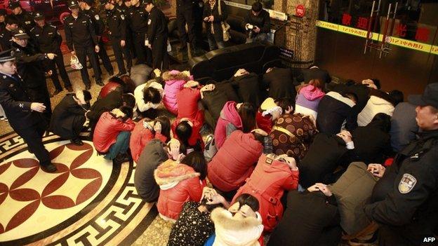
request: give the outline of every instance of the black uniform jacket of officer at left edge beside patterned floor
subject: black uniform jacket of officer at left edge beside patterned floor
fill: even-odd
[[[11,78],[0,74],[0,104],[14,129],[28,128],[40,118],[38,113],[30,110],[32,102],[18,76]]]

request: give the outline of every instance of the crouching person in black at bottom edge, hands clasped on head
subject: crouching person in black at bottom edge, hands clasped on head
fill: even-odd
[[[303,192],[290,191],[283,218],[270,235],[268,246],[338,245],[342,228],[336,197],[326,184]]]

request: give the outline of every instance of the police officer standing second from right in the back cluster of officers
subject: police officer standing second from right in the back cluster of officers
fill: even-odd
[[[131,7],[126,11],[128,25],[131,27],[135,54],[137,62],[135,64],[152,64],[152,54],[145,47],[147,33],[147,12],[141,6],[140,0],[131,0]]]

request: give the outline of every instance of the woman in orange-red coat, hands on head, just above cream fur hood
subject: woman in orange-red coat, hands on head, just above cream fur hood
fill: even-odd
[[[298,188],[298,168],[296,161],[286,155],[263,154],[257,166],[244,186],[237,191],[234,200],[242,193],[248,193],[258,199],[260,214],[265,231],[272,231],[283,216],[281,196],[284,191]]]

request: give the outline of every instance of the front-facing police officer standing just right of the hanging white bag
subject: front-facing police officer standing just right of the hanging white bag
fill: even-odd
[[[72,55],[77,55],[79,62],[82,64],[81,78],[84,81],[85,88],[86,90],[91,88],[91,81],[86,67],[87,56],[93,67],[96,83],[99,86],[104,86],[96,56],[100,48],[93,23],[88,16],[79,13],[79,5],[76,0],[69,1],[69,9],[72,11],[72,15],[67,16],[64,20],[65,41],[67,41],[67,46]]]

